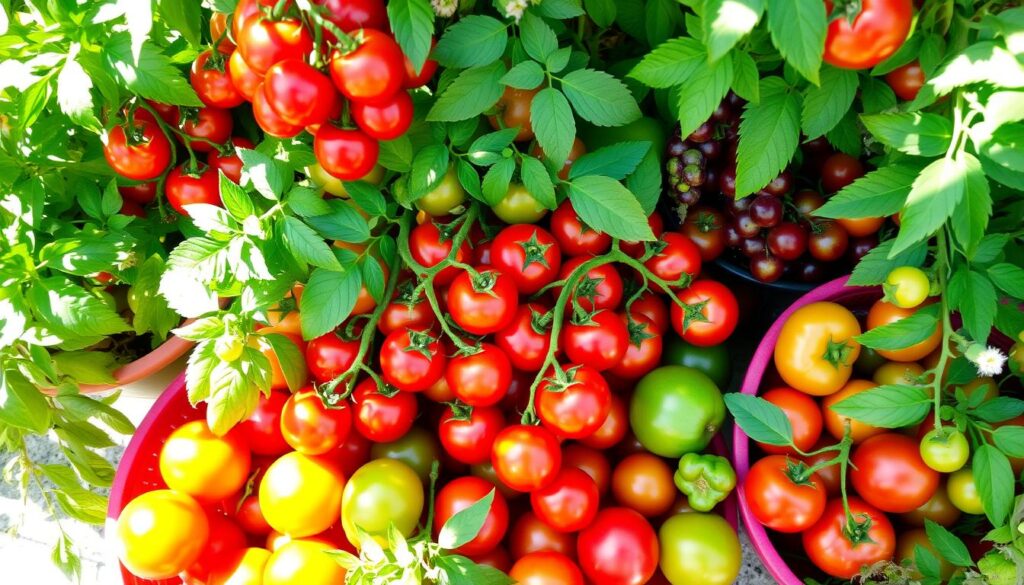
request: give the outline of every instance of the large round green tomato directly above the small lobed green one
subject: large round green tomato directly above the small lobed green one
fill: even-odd
[[[630,403],[630,427],[647,451],[681,457],[702,451],[725,420],[725,401],[705,373],[663,366],[644,376]]]

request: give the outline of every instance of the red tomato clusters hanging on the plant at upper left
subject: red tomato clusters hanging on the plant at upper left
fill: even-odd
[[[287,12],[278,14],[276,2],[242,0],[230,15],[211,20],[216,49],[196,58],[190,80],[203,108],[178,108],[147,102],[133,108],[128,121],[114,127],[103,152],[111,167],[137,183],[121,189],[122,213],[144,215],[142,206],[157,196],[159,179],[175,211],[187,215],[186,205],[221,205],[218,171],[234,182],[242,174],[236,149],[252,149],[247,138],[233,135],[232,109],[252,103],[256,123],[268,135],[314,136],[319,167],[330,176],[358,180],[375,170],[380,140],[406,133],[413,122],[413,99],[407,90],[433,77],[437,62],[428,59],[417,72],[398,43],[388,34],[384,3],[380,0],[342,2],[321,0],[310,14],[327,22],[323,34],[337,45],[314,47],[313,26]],[[312,16],[307,16],[312,18]],[[335,37],[332,30],[351,35]],[[309,65],[310,56],[321,67]],[[338,126],[342,112],[354,124]],[[159,120],[158,120],[159,117]],[[188,160],[177,160],[170,136],[187,150]],[[195,155],[205,155],[205,162]]]

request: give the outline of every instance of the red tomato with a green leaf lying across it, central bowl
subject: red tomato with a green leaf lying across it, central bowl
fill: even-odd
[[[508,503],[505,502],[505,496],[495,489],[494,484],[472,475],[453,479],[437,492],[434,503],[434,535],[440,532],[449,518],[480,501],[490,492],[495,493],[495,499],[490,502],[490,509],[483,520],[483,526],[480,527],[480,532],[473,540],[455,549],[455,552],[483,554],[498,546],[509,528]]]

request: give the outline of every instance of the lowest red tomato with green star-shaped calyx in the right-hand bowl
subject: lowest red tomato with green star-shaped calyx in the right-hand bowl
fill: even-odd
[[[870,528],[856,544],[847,532],[846,511],[839,498],[829,501],[821,518],[803,534],[807,556],[838,579],[853,579],[861,567],[891,560],[896,550],[896,534],[889,518],[860,498],[850,497],[849,501],[854,518],[870,519]]]

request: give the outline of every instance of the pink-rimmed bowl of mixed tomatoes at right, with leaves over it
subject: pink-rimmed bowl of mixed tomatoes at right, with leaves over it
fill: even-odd
[[[993,546],[982,502],[988,478],[971,461],[993,448],[976,433],[1022,422],[1012,408],[983,405],[1019,388],[1000,387],[955,347],[943,348],[941,321],[912,342],[878,343],[883,328],[937,308],[920,269],[895,268],[885,297],[878,288],[845,288],[845,280],[776,322],[754,358],[746,395],[729,405],[752,541],[786,585],[822,575],[963,576]],[[1020,473],[1024,460],[1007,458]]]

